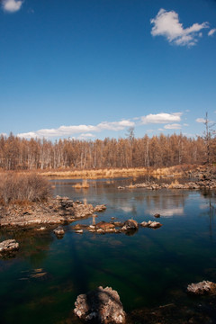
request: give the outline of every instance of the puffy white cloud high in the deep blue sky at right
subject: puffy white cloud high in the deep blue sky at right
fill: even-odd
[[[197,38],[201,37],[200,31],[209,28],[209,23],[193,23],[191,27],[184,28],[179,23],[178,14],[175,11],[167,12],[160,9],[157,16],[150,20],[154,24],[151,30],[152,36],[165,36],[166,40],[179,46],[193,46]]]

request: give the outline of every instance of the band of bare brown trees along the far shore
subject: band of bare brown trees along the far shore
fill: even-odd
[[[182,134],[120,139],[23,139],[11,133],[0,137],[2,170],[97,169],[160,167],[214,162],[215,138]]]

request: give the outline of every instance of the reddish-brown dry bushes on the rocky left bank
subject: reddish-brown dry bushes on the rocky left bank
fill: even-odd
[[[49,181],[37,174],[0,175],[0,200],[4,203],[45,201],[50,191]]]

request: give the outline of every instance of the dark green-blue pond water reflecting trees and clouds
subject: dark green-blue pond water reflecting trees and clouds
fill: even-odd
[[[14,258],[0,259],[0,323],[80,323],[74,318],[76,296],[99,285],[121,296],[125,311],[169,302],[188,302],[187,284],[216,282],[216,195],[196,191],[123,190],[130,180],[97,180],[75,190],[73,180],[53,181],[54,194],[106,203],[96,221],[155,220],[160,229],[125,234],[78,235],[65,226],[64,238],[52,230],[2,230],[0,240],[16,238]],[[92,219],[83,220],[90,224]],[[75,223],[74,223],[75,224]],[[74,225],[73,224],[73,225]],[[33,278],[34,269],[46,275]]]

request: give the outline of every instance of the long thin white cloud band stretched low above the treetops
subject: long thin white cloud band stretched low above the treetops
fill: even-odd
[[[133,121],[102,121],[97,125],[71,125],[71,126],[60,126],[58,129],[45,129],[45,130],[36,130],[30,131],[27,133],[20,133],[17,136],[25,139],[31,138],[52,138],[52,137],[60,137],[60,136],[71,136],[74,134],[81,134],[84,138],[84,134],[88,137],[92,135],[92,132],[100,132],[103,130],[124,130],[127,127],[133,127],[135,123]]]

